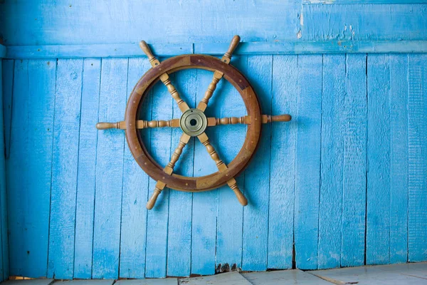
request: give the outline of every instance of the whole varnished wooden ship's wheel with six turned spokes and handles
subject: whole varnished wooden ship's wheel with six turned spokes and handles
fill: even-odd
[[[219,59],[214,56],[205,56],[199,54],[190,54],[184,56],[175,56],[160,63],[149,50],[147,43],[141,41],[139,45],[142,51],[148,56],[152,68],[139,79],[137,85],[130,94],[130,99],[127,102],[125,121],[118,123],[97,123],[98,129],[120,128],[126,130],[126,139],[133,157],[138,162],[142,170],[147,173],[152,179],[157,181],[152,197],[147,202],[147,209],[152,209],[164,187],[169,187],[174,190],[199,192],[212,190],[222,185],[228,184],[235,192],[238,201],[245,206],[248,204],[246,197],[238,189],[238,185],[234,177],[238,175],[248,165],[248,162],[253,157],[253,154],[258,145],[260,138],[261,124],[270,123],[271,121],[288,121],[290,115],[269,116],[261,115],[258,98],[251,87],[251,84],[246,78],[233,66],[230,66],[231,54],[240,41],[239,36],[234,36],[231,45],[225,55]],[[181,96],[176,91],[172,82],[169,80],[169,74],[175,71],[180,71],[186,68],[200,68],[208,71],[214,71],[214,77],[208,86],[208,90],[204,98],[200,101],[197,108],[191,109],[189,105],[181,99]],[[243,102],[246,105],[248,115],[241,118],[206,118],[204,111],[209,103],[209,99],[216,89],[217,83],[221,78],[226,78],[240,93]],[[162,81],[171,93],[174,100],[182,112],[181,118],[172,120],[153,120],[144,121],[138,120],[140,106],[147,91],[154,86],[157,81]],[[206,128],[215,125],[228,124],[247,124],[243,147],[238,152],[238,155],[226,165],[218,156],[213,145],[209,141],[205,133]],[[162,127],[180,127],[183,131],[179,140],[179,145],[174,150],[170,162],[165,166],[160,166],[149,155],[147,148],[142,142],[139,134],[141,128],[162,128]],[[182,153],[183,148],[189,142],[191,137],[196,137],[206,147],[207,152],[216,163],[218,172],[202,177],[185,177],[173,173],[176,161]]]

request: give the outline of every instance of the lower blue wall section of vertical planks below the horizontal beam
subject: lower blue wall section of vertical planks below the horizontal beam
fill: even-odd
[[[426,260],[427,57],[240,56],[232,64],[254,83],[264,113],[294,118],[264,125],[255,160],[238,177],[248,207],[221,187],[165,190],[147,212],[154,184],[130,157],[123,131],[94,127],[122,120],[146,58],[5,60],[11,275],[188,276],[225,263],[288,269],[293,254],[301,269],[357,266],[365,257]],[[172,79],[194,106],[211,73]],[[161,85],[144,110],[153,119],[180,113]],[[245,111],[223,82],[208,113]],[[171,131],[143,131],[161,165],[176,145]],[[209,129],[226,162],[244,134],[238,125]],[[177,169],[203,175],[215,165],[191,142]]]

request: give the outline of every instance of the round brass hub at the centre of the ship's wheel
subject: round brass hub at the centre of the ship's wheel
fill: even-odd
[[[206,130],[207,125],[208,119],[199,109],[186,110],[179,119],[181,130],[191,137],[201,135]]]

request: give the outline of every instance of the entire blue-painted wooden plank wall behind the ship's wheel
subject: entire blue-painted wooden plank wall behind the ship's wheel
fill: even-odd
[[[427,51],[427,4],[419,2],[4,1],[10,275],[152,278],[214,274],[226,263],[263,271],[426,261],[427,55],[413,52]],[[219,54],[235,33],[247,43],[231,64],[253,84],[263,113],[293,120],[263,126],[237,179],[247,207],[221,187],[165,190],[147,211],[155,182],[124,132],[95,129],[122,120],[149,68],[132,43],[144,38],[162,56]],[[211,73],[180,71],[172,80],[195,106]],[[162,85],[143,108],[144,119],[180,115]],[[207,113],[246,111],[221,81]],[[228,163],[245,133],[228,125],[208,135]],[[180,130],[142,135],[166,165]],[[176,169],[216,172],[193,141]]]

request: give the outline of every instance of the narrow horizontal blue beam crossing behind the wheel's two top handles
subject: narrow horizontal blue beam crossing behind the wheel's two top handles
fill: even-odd
[[[154,43],[157,56],[223,55],[229,43]],[[0,46],[5,53],[4,46]],[[427,41],[288,41],[240,43],[237,55],[314,53],[427,53]],[[64,46],[7,46],[6,58],[111,58],[144,56],[137,43]]]

